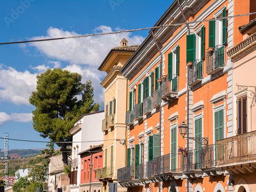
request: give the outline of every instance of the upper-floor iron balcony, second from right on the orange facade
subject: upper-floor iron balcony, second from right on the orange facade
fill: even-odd
[[[195,60],[190,67],[188,67],[188,85],[195,86],[203,79],[203,60]]]

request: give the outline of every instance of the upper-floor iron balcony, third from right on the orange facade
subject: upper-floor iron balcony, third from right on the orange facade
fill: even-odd
[[[162,79],[160,96],[165,102],[178,98],[178,75],[168,74]]]

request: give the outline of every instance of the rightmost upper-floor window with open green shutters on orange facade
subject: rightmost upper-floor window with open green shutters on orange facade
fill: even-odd
[[[215,17],[226,17],[226,7],[215,14]],[[209,47],[227,43],[227,19],[209,21]]]

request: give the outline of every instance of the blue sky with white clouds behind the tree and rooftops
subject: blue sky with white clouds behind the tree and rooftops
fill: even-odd
[[[153,27],[173,0],[21,0],[0,1],[0,42],[84,35]],[[104,104],[98,66],[112,47],[125,37],[141,44],[148,30],[96,37],[0,45],[0,137],[48,141],[33,129],[29,96],[36,74],[60,67],[93,82],[94,100]],[[3,142],[3,140],[0,140]],[[9,149],[45,147],[46,143],[9,140]],[[3,145],[0,145],[3,148]]]

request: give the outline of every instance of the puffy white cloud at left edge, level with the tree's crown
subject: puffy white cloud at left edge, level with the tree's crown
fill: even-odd
[[[18,72],[1,64],[0,82],[0,101],[29,105],[29,96],[36,87],[36,74],[27,70]]]

